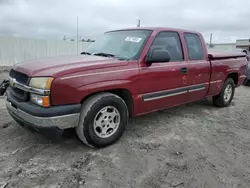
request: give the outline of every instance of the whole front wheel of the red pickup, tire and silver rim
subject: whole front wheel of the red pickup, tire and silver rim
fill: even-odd
[[[112,93],[99,93],[82,104],[76,133],[86,145],[102,148],[116,142],[127,123],[126,103]]]

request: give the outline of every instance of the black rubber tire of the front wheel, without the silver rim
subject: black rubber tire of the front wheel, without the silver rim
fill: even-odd
[[[113,135],[108,138],[101,138],[94,130],[94,119],[98,112],[107,106],[115,107],[118,110],[120,123]],[[119,96],[106,92],[98,93],[83,102],[76,133],[79,139],[86,145],[103,148],[115,143],[122,136],[128,124],[128,117],[127,105]]]

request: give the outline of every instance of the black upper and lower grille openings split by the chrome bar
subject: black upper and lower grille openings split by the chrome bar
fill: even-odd
[[[29,81],[29,77],[26,74],[17,72],[13,69],[10,70],[10,77],[15,78],[17,82],[24,85],[27,85]],[[29,93],[26,91],[23,91],[15,87],[10,87],[10,92],[19,101],[25,102],[28,100]]]

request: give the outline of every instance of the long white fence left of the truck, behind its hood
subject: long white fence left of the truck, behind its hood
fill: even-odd
[[[90,42],[78,42],[78,53]],[[0,66],[12,66],[24,60],[77,54],[75,41],[0,37]]]

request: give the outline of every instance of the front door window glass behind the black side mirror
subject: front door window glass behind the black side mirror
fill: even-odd
[[[160,32],[154,39],[150,51],[162,49],[167,50],[171,61],[183,61],[183,51],[181,41],[177,32]]]

